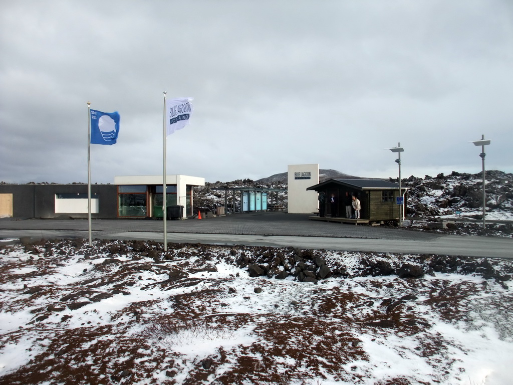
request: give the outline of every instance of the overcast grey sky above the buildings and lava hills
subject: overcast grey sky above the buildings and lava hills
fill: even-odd
[[[86,182],[87,101],[119,111],[92,183],[167,174],[513,172],[513,2],[2,1],[0,181]]]

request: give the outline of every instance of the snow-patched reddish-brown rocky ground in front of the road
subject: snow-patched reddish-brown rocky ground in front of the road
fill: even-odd
[[[0,382],[508,385],[513,378],[509,260],[159,247],[61,241],[0,249]],[[317,283],[251,277],[247,268],[274,260],[283,271],[316,258],[332,272]],[[391,275],[365,273],[384,264]],[[425,274],[399,278],[404,264]]]

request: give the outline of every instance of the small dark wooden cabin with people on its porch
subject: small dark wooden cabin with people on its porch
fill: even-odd
[[[406,188],[401,188],[403,195]],[[326,194],[325,218],[311,216],[310,219],[335,221],[344,223],[382,223],[384,221],[398,221],[401,208],[404,205],[397,204],[396,198],[401,197],[399,184],[380,179],[329,179],[322,183],[308,187],[307,190],[315,190]],[[355,195],[361,203],[360,219],[346,218],[344,198],[346,192]],[[331,213],[330,198],[335,195],[336,205],[334,217]],[[354,211],[351,210],[354,214]]]

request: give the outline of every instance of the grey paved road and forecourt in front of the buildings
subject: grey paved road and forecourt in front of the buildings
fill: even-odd
[[[243,213],[168,220],[167,241],[513,258],[513,239],[446,236],[406,228],[311,221],[307,214]],[[163,241],[163,221],[92,220],[92,238]],[[87,219],[0,219],[0,239],[88,238]]]

